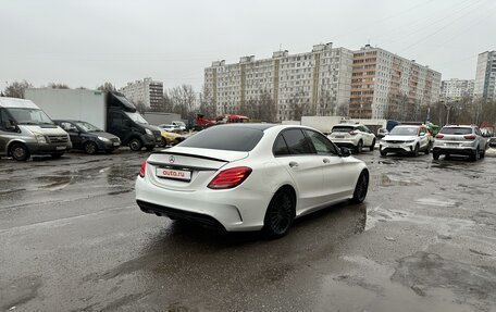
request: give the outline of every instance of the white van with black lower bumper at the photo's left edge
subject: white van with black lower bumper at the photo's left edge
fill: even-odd
[[[69,134],[29,100],[0,97],[0,157],[25,161],[32,154],[60,158],[71,149]]]

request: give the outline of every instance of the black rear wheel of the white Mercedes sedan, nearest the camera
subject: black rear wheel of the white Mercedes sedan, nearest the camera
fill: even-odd
[[[295,198],[287,189],[275,192],[263,220],[263,232],[270,238],[286,235],[295,220]]]

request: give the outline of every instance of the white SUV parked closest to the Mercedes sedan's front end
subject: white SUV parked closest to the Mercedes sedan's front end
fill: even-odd
[[[363,147],[368,147],[371,151],[375,148],[374,134],[361,124],[335,125],[328,138],[336,146],[354,149],[357,153],[361,153]]]

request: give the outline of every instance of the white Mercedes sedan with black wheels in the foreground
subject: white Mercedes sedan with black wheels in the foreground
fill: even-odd
[[[285,235],[296,217],[330,204],[360,203],[367,165],[303,126],[226,124],[154,152],[136,179],[146,213],[228,232]]]

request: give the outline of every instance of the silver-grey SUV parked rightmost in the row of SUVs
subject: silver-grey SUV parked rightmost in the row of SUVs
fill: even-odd
[[[432,154],[434,160],[439,155],[469,155],[472,161],[485,157],[487,139],[474,125],[444,126],[436,135]]]

